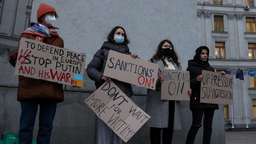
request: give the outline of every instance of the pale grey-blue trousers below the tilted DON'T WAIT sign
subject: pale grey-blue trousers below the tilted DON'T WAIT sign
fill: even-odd
[[[98,118],[98,124],[98,144],[110,144],[110,127],[108,127],[108,125],[105,124],[105,122],[102,121],[100,118]],[[112,144],[122,144],[122,139],[118,137],[118,135],[115,132],[112,133]]]

